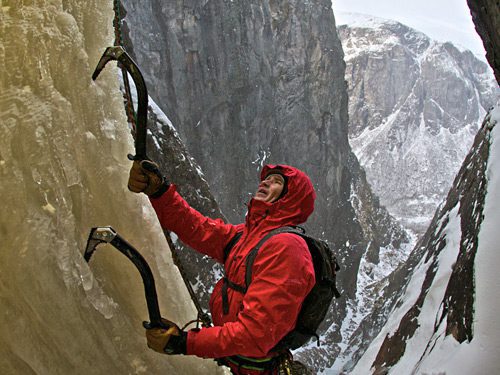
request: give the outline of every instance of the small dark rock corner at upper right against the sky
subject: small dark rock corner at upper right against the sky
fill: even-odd
[[[486,58],[500,82],[500,6],[498,0],[467,0]]]

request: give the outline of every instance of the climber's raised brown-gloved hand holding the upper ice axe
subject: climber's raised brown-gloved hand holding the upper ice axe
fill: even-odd
[[[156,197],[164,193],[168,186],[156,163],[150,160],[134,160],[128,179],[130,191]]]

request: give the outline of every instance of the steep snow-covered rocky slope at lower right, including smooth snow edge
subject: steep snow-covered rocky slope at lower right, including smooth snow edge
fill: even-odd
[[[499,373],[499,122],[497,107],[411,255],[387,323],[352,374]]]

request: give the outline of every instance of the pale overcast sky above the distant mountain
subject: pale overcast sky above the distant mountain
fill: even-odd
[[[483,61],[483,43],[477,35],[466,0],[332,0],[337,24],[340,12],[369,14],[399,21],[432,39],[471,50]]]

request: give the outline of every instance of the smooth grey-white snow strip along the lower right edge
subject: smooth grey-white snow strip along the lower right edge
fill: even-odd
[[[500,373],[500,107],[489,120],[491,148],[488,161],[488,194],[484,203],[484,219],[479,232],[479,248],[474,265],[475,303],[474,337],[459,344],[453,337],[435,335],[432,351],[420,361],[421,374],[498,374]]]

